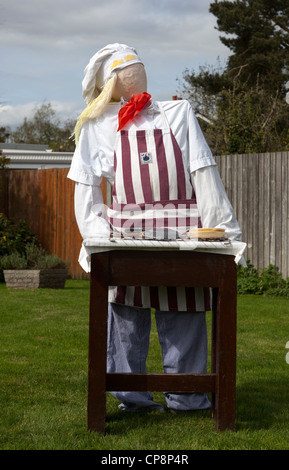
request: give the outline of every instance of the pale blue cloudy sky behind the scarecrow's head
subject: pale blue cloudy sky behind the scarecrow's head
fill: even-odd
[[[0,0],[0,126],[12,130],[51,103],[61,120],[84,109],[89,59],[107,44],[134,47],[148,92],[171,100],[185,69],[225,64],[213,0]]]

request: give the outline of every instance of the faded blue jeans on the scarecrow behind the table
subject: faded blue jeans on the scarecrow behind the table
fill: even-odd
[[[155,312],[166,373],[207,372],[207,326],[205,312]],[[109,303],[107,372],[146,372],[151,330],[151,310]],[[120,408],[163,409],[151,392],[111,392]],[[197,410],[210,408],[206,393],[165,392],[168,408]]]

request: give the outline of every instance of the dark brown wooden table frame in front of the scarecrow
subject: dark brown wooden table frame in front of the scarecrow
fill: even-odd
[[[235,429],[236,273],[234,256],[226,254],[122,249],[91,255],[87,403],[90,431],[105,433],[107,391],[211,392],[216,429]],[[108,286],[176,284],[212,288],[211,372],[107,373]]]

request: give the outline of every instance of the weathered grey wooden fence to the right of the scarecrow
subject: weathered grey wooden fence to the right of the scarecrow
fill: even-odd
[[[216,157],[227,194],[257,268],[289,276],[289,152]]]

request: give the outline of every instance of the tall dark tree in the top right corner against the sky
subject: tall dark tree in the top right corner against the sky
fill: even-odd
[[[218,31],[225,33],[220,40],[233,52],[229,76],[238,70],[248,85],[258,81],[269,91],[284,87],[289,78],[288,0],[215,0],[209,11],[217,17]]]

